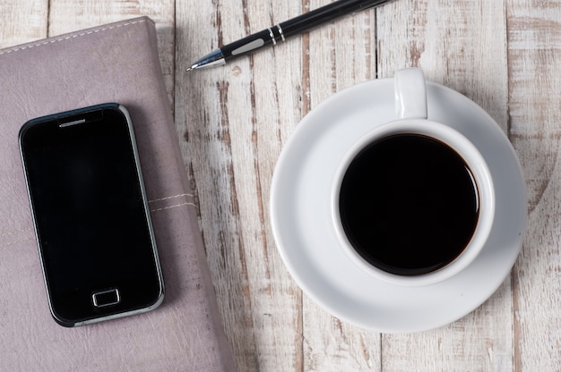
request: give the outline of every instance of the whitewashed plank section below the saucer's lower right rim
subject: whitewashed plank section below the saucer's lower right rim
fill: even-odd
[[[384,334],[383,369],[513,370],[511,325],[496,314],[496,309],[505,308],[510,292],[510,281],[505,281],[484,305],[451,325],[419,334]]]

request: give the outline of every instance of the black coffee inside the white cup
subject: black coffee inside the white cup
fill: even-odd
[[[470,168],[453,148],[399,134],[353,159],[339,207],[360,256],[389,273],[421,275],[446,266],[468,245],[479,197]]]

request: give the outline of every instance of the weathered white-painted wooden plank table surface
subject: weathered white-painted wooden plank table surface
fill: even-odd
[[[561,370],[561,1],[395,0],[225,67],[185,72],[223,43],[326,3],[0,0],[0,47],[140,14],[157,21],[239,371]],[[430,332],[377,334],[300,291],[272,239],[269,192],[304,115],[334,92],[408,66],[500,124],[522,162],[529,226],[512,274],[479,309]]]

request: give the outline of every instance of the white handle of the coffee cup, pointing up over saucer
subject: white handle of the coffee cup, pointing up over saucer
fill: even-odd
[[[400,119],[427,119],[427,86],[419,68],[395,72],[395,109]]]

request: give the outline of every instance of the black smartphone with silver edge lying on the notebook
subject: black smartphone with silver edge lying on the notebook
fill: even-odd
[[[56,322],[86,325],[156,309],[163,277],[125,107],[30,120],[19,144]]]

